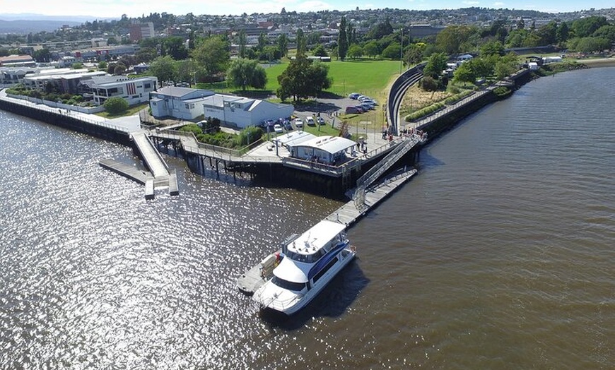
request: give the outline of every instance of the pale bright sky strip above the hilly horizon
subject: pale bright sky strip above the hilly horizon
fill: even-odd
[[[611,8],[612,0],[0,0],[0,13],[35,13],[45,16],[92,16],[119,18],[122,14],[139,17],[149,13],[171,13],[176,16],[193,13],[240,15],[242,13],[279,13],[286,11],[338,10],[354,8],[400,8],[410,10],[482,8],[530,9],[550,13],[580,11],[590,8]]]

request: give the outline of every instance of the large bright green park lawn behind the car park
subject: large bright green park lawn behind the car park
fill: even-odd
[[[361,93],[378,97],[387,88],[390,80],[399,74],[399,61],[361,59],[357,61],[331,61],[325,63],[329,66],[329,77],[332,78],[332,87],[329,93],[346,96],[349,93]],[[266,68],[267,85],[265,90],[272,93],[279,88],[278,76],[286,69],[288,62],[275,64]]]

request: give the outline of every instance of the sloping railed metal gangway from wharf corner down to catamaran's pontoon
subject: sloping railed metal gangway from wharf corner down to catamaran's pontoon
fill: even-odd
[[[422,136],[418,134],[413,134],[406,138],[402,143],[399,143],[397,147],[391,150],[391,153],[387,154],[386,157],[382,158],[380,162],[377,162],[374,167],[370,168],[368,172],[365,172],[363,176],[359,177],[356,181],[356,190],[353,195],[353,200],[356,208],[361,210],[365,207],[365,190],[373,184],[382,174],[387,172],[389,168],[391,168],[399,158],[403,157],[408,153],[414,145],[421,143]]]

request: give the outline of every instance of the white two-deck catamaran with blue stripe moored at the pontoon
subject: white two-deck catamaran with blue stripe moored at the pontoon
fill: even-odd
[[[264,309],[291,315],[309,303],[355,254],[346,226],[323,220],[282,246],[273,276],[252,299]]]

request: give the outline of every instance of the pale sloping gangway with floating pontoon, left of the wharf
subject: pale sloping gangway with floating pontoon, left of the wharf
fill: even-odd
[[[177,173],[175,170],[169,170],[165,160],[163,160],[163,157],[156,150],[146,133],[144,131],[135,131],[131,133],[131,138],[135,150],[139,153],[149,171],[142,171],[117,160],[101,160],[98,163],[100,167],[110,169],[139,184],[144,184],[146,199],[153,199],[156,189],[168,188],[170,195],[179,195]]]

